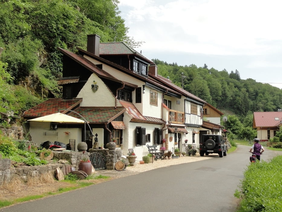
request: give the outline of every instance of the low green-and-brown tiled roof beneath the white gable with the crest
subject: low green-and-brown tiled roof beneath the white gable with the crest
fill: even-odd
[[[125,112],[125,108],[77,108],[77,113],[83,116],[89,123],[109,123]],[[70,112],[71,116],[79,118],[79,115]]]

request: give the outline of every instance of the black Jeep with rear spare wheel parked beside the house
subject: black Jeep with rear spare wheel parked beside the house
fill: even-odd
[[[222,135],[202,135],[200,142],[200,156],[204,154],[209,155],[212,153],[219,154],[219,157],[226,156],[227,145]]]

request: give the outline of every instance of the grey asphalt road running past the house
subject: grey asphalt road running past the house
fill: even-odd
[[[238,188],[250,147],[238,145],[223,158],[159,168],[86,188],[0,209],[0,211],[224,211],[236,210]],[[268,161],[279,151],[264,151]]]

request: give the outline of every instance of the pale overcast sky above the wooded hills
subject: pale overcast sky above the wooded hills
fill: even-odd
[[[148,59],[237,69],[282,89],[282,1],[119,0],[128,36]]]

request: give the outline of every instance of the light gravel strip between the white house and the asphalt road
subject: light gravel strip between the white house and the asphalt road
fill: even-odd
[[[154,161],[154,163],[148,163],[148,164],[140,164],[139,161],[135,162],[134,166],[129,166],[125,170],[122,171],[117,171],[117,170],[98,170],[96,171],[96,175],[105,175],[109,176],[112,178],[120,178],[120,177],[126,177],[129,175],[134,175],[134,174],[139,174],[144,171],[150,171],[152,169],[157,169],[161,167],[166,167],[166,166],[172,166],[176,164],[183,164],[183,163],[190,163],[190,162],[195,162],[195,161],[202,161],[202,160],[207,160],[212,157],[200,157],[199,155],[195,156],[183,156],[179,158],[170,158],[165,159],[165,160],[157,160]]]

